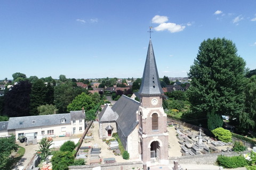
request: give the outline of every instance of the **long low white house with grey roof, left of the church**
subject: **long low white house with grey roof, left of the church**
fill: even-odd
[[[44,137],[70,136],[83,133],[85,129],[84,111],[70,111],[65,114],[10,117],[8,122],[0,122],[0,137],[14,134],[42,139]]]

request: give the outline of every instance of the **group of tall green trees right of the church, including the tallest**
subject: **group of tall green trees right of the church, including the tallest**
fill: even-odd
[[[204,40],[188,73],[192,79],[187,91],[188,116],[210,130],[222,126],[221,115],[228,115],[241,132],[255,130],[256,75],[249,74],[245,65],[232,41]]]

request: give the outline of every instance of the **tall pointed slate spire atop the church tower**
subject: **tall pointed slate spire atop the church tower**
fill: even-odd
[[[144,67],[143,77],[139,90],[140,95],[162,95],[159,76],[156,67],[155,54],[151,39],[149,40],[147,59]]]

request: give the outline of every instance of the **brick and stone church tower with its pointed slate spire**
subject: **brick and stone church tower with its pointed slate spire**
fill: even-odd
[[[168,164],[168,133],[162,106],[163,90],[159,81],[151,38],[139,90],[139,152],[146,169],[152,162]]]

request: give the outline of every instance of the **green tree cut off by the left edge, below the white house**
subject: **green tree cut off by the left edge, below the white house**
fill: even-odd
[[[6,163],[9,160],[12,150],[18,150],[18,145],[15,143],[15,136],[0,138],[0,169],[6,168]]]

